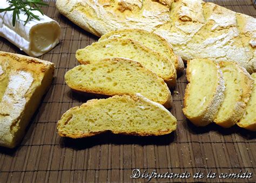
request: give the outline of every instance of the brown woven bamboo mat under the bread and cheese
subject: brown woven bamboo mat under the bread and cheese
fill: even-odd
[[[256,16],[250,0],[214,1],[228,9]],[[55,63],[55,80],[33,116],[28,132],[14,150],[0,147],[0,182],[130,182],[132,170],[143,173],[174,172],[191,174],[188,179],[152,179],[152,181],[256,181],[255,133],[234,126],[225,130],[217,125],[199,129],[188,122],[181,111],[185,74],[178,79],[173,93],[171,112],[178,119],[178,129],[161,137],[130,137],[105,133],[86,139],[71,140],[57,135],[56,124],[69,108],[93,96],[73,93],[65,85],[64,73],[78,65],[78,48],[97,41],[97,37],[80,29],[55,8],[54,2],[44,8],[49,17],[62,27],[60,44],[41,59]],[[22,53],[0,38],[2,51]],[[247,179],[193,178],[200,171],[212,173],[251,172]]]

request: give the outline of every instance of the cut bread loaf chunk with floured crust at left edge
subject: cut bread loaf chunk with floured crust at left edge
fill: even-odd
[[[15,147],[49,88],[55,66],[48,61],[0,52],[0,145]]]

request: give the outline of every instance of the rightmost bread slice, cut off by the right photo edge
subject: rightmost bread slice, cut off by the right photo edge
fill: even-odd
[[[247,130],[256,131],[256,73],[253,73],[254,80],[252,94],[245,108],[244,116],[240,119],[238,126]]]

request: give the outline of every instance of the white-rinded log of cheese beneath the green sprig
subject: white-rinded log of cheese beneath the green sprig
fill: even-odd
[[[1,1],[0,9],[7,8],[9,3]],[[25,26],[27,16],[23,11],[19,14],[15,26],[12,26],[12,11],[0,13],[0,36],[9,40],[31,57],[39,57],[49,52],[59,43],[59,24],[42,15],[39,11],[33,11],[40,20],[32,19]]]

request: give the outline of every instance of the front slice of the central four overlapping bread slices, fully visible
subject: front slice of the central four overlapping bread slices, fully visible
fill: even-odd
[[[162,105],[142,95],[115,95],[90,100],[65,112],[58,121],[63,137],[90,137],[105,131],[126,135],[165,135],[176,130],[177,119]]]

